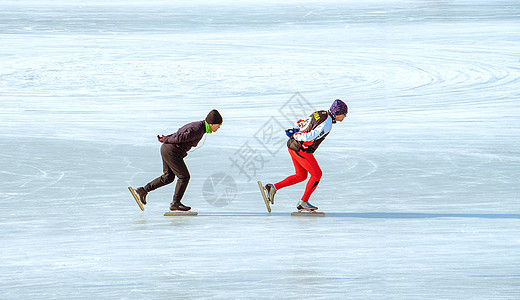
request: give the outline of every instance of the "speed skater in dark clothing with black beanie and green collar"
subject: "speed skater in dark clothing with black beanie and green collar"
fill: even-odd
[[[149,182],[143,187],[139,187],[136,193],[142,204],[146,204],[146,195],[162,186],[172,183],[177,177],[177,185],[170,210],[188,211],[191,207],[181,203],[182,196],[186,191],[190,181],[190,173],[184,163],[184,158],[188,151],[196,147],[206,133],[216,132],[222,125],[222,116],[214,109],[209,112],[203,121],[196,121],[186,124],[179,128],[177,132],[168,136],[157,136],[161,145],[161,157],[163,161],[163,174]]]

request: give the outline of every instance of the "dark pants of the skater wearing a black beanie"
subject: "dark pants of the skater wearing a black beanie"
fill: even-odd
[[[162,186],[172,183],[177,176],[177,186],[173,195],[173,203],[181,202],[182,196],[188,187],[190,181],[190,172],[184,163],[184,158],[175,155],[168,150],[164,144],[161,146],[161,157],[163,160],[163,174],[152,180],[145,186],[146,191],[151,192]]]

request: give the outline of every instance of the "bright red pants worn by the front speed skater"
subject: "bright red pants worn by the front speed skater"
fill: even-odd
[[[312,192],[314,192],[316,187],[318,187],[318,183],[320,183],[322,175],[320,166],[312,153],[302,151],[296,153],[294,150],[289,149],[289,154],[291,154],[296,174],[275,183],[274,187],[279,190],[286,186],[297,184],[307,179],[307,174],[310,173],[311,178],[309,179],[309,182],[307,182],[305,193],[302,197],[302,201],[307,202],[309,201]]]

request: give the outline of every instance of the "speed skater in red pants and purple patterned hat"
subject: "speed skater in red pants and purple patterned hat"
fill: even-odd
[[[296,122],[296,128],[285,131],[289,137],[287,147],[289,148],[289,154],[291,155],[296,173],[278,183],[265,185],[267,198],[271,204],[274,204],[274,195],[277,190],[302,182],[307,179],[308,174],[311,174],[303,197],[298,202],[296,208],[303,211],[318,209],[309,203],[309,198],[320,183],[322,175],[320,166],[313,153],[330,133],[332,124],[335,124],[337,121],[342,122],[347,113],[348,107],[345,102],[337,99],[332,103],[328,111],[316,111],[306,120]]]

